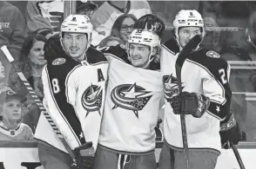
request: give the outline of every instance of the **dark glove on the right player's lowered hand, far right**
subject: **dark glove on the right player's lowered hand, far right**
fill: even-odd
[[[241,133],[239,130],[239,124],[234,119],[233,114],[228,114],[226,120],[220,122],[220,138],[221,144],[225,149],[230,148],[229,141],[232,141],[233,145],[239,144]]]

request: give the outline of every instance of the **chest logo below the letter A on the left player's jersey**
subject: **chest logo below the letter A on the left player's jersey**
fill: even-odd
[[[98,111],[100,114],[100,108],[102,105],[102,88],[91,84],[91,87],[87,88],[82,95],[82,105],[87,111],[85,117],[91,112]]]

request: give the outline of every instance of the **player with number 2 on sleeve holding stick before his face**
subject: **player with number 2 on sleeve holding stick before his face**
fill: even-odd
[[[179,114],[186,114],[189,168],[213,169],[221,149],[220,121],[223,123],[220,133],[226,136],[232,133],[235,139],[238,138],[238,127],[229,110],[232,97],[229,87],[230,68],[215,51],[198,47],[187,56],[183,64],[183,89],[179,94],[175,62],[179,52],[193,36],[205,36],[205,27],[197,10],[180,10],[173,26],[175,39],[162,46],[165,144],[160,153],[159,169],[185,168]],[[230,138],[226,137],[228,140]]]

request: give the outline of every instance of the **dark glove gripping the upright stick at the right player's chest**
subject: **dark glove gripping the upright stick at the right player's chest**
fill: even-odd
[[[210,106],[210,101],[205,95],[182,92],[169,100],[174,114],[192,114],[196,118],[202,117]]]

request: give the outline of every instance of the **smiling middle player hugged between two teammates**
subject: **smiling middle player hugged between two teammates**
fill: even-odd
[[[100,49],[100,48],[98,48]],[[163,101],[160,39],[134,29],[124,46],[102,48],[109,68],[95,169],[156,169],[155,130]]]

